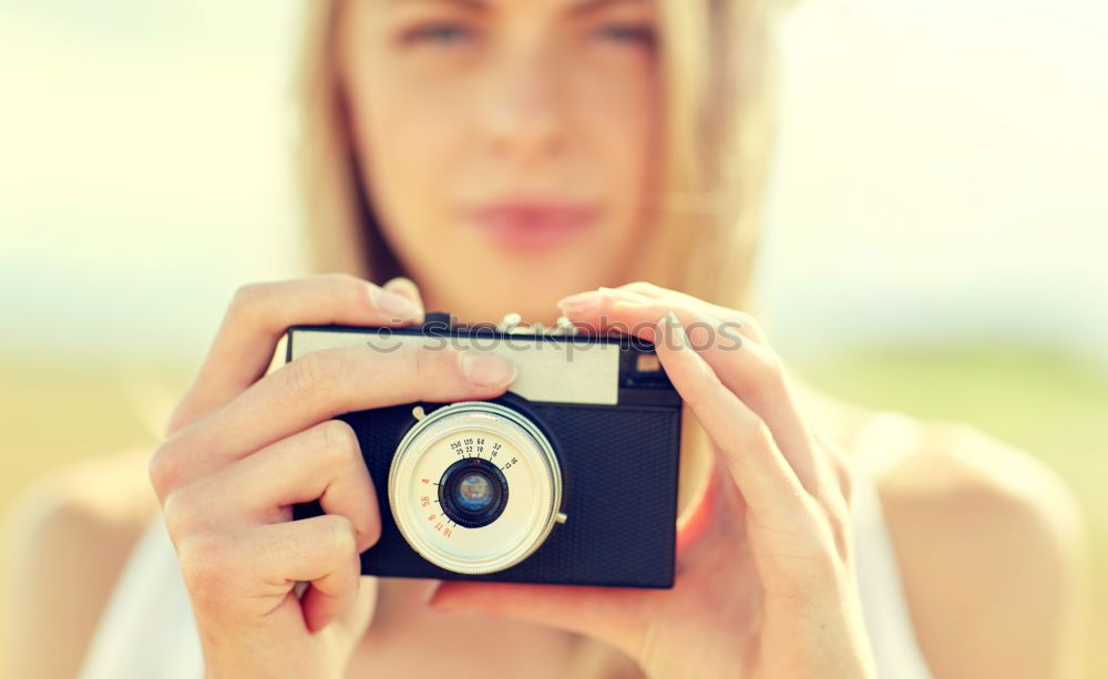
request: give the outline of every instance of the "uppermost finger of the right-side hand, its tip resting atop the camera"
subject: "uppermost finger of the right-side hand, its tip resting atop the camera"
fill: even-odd
[[[746,337],[745,331],[751,325],[745,323],[740,332],[715,316],[706,316],[701,306],[678,295],[647,297],[613,289],[601,291],[599,296],[601,306],[588,312],[586,322],[637,330],[644,339],[653,340],[657,319],[673,311],[696,352],[769,426],[778,447],[808,492],[821,501],[834,502],[831,463],[814,444],[781,360],[768,346]]]

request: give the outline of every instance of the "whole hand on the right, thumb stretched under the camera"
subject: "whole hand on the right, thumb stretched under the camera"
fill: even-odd
[[[583,634],[650,677],[873,677],[854,579],[850,467],[800,412],[758,323],[640,282],[558,306],[579,327],[655,341],[711,440],[706,490],[678,519],[675,586],[444,582],[432,606]]]

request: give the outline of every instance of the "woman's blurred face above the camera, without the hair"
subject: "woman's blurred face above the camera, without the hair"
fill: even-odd
[[[429,308],[556,316],[624,282],[659,165],[649,0],[347,0],[367,191]]]

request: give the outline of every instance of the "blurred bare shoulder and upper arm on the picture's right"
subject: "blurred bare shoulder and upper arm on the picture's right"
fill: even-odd
[[[1087,544],[1073,494],[972,426],[914,429],[878,492],[935,676],[1078,676]]]

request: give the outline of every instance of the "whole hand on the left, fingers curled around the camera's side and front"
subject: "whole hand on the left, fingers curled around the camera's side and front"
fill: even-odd
[[[488,399],[504,359],[404,347],[309,353],[265,374],[293,325],[403,325],[416,286],[345,275],[248,285],[232,301],[150,463],[208,677],[342,676],[376,578],[359,554],[380,536],[378,498],[353,430],[335,415],[419,400]],[[325,514],[291,521],[291,504]],[[308,583],[302,596],[297,583]]]

